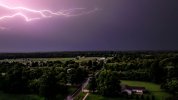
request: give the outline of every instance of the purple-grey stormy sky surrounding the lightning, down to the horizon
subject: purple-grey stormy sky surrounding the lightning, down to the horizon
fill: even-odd
[[[32,22],[21,17],[1,20],[0,52],[178,49],[178,0],[2,0],[0,3],[53,12],[85,8],[72,14],[93,11]],[[0,7],[0,17],[10,14],[7,12],[8,9]]]

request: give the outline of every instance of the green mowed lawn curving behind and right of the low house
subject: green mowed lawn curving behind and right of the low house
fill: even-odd
[[[165,100],[165,98],[171,96],[169,93],[166,93],[164,90],[160,89],[160,85],[154,83],[122,80],[121,84],[145,87],[151,95],[155,96],[156,100]]]

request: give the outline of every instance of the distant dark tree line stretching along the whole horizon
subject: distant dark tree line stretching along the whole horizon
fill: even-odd
[[[17,58],[67,58],[67,57],[112,57],[117,56],[122,58],[123,56],[132,58],[153,58],[155,56],[167,55],[169,53],[177,53],[177,51],[68,51],[68,52],[35,52],[35,53],[0,53],[0,59],[17,59]],[[151,55],[151,56],[150,56]],[[118,59],[117,59],[118,60]]]

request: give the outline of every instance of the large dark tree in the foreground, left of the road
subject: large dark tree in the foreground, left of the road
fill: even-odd
[[[57,77],[55,68],[47,71],[40,79],[39,94],[47,100],[55,100],[58,93],[64,93],[67,90],[64,83],[60,82],[62,77]],[[59,75],[62,76],[62,75]]]

